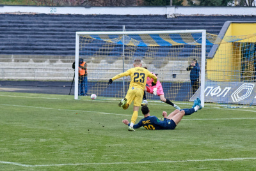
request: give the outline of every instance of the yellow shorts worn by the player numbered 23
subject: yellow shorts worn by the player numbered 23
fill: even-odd
[[[143,94],[144,94],[144,91],[142,89],[139,89],[136,87],[130,87],[125,96],[125,98],[127,98],[127,104],[131,105],[133,101],[134,106],[140,107]]]

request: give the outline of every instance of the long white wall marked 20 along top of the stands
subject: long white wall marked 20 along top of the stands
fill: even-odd
[[[214,7],[214,6],[0,6],[1,13],[44,13],[73,15],[255,15],[255,7]]]

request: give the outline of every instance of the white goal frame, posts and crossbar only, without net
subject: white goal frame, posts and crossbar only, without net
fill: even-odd
[[[182,34],[182,33],[201,33],[202,34],[202,63],[201,63],[201,89],[200,89],[200,100],[202,107],[204,107],[204,91],[205,91],[205,45],[206,45],[206,30],[180,30],[180,31],[97,31],[97,32],[76,32],[76,68],[75,68],[75,90],[74,99],[78,100],[78,61],[79,61],[79,36],[83,34]]]

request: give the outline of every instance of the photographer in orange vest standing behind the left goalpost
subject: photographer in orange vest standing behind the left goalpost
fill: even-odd
[[[76,63],[72,64],[72,68],[75,69]],[[79,96],[86,96],[87,95],[87,64],[86,62],[79,58]]]

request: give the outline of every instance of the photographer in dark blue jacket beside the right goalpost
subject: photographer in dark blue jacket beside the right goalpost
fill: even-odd
[[[188,66],[187,71],[190,71],[190,81],[192,86],[193,94],[197,91],[199,88],[199,72],[200,72],[200,66],[196,62],[196,58],[193,59],[191,64]]]

